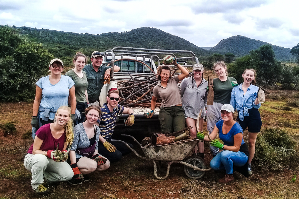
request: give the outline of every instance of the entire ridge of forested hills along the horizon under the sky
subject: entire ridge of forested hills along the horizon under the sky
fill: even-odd
[[[198,47],[184,38],[174,36],[157,28],[141,27],[124,33],[103,33],[92,35],[89,33],[72,33],[57,30],[37,29],[30,27],[14,27],[20,30],[22,35],[33,41],[42,43],[49,52],[57,57],[73,56],[76,51],[84,51],[91,54],[92,51],[105,51],[116,46],[139,47],[168,50],[190,50],[199,60],[206,59],[213,53],[233,53],[236,56],[249,54],[267,44],[263,41],[250,39],[245,36],[233,36],[221,40],[215,47]],[[271,45],[271,44],[270,44]],[[292,59],[291,49],[271,45],[279,61]],[[211,48],[210,50],[205,50]]]

